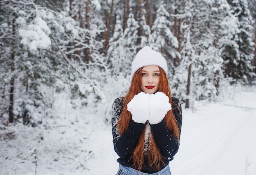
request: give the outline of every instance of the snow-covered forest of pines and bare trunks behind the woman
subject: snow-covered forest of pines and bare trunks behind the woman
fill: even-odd
[[[193,110],[232,85],[256,85],[255,43],[256,0],[1,0],[0,130],[47,129],[57,102],[65,118],[69,106],[110,125],[146,45]]]

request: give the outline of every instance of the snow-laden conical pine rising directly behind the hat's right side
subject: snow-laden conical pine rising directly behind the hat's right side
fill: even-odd
[[[180,53],[177,52],[178,41],[171,31],[171,26],[173,25],[171,21],[168,20],[170,14],[165,9],[166,4],[161,1],[159,9],[157,9],[156,19],[151,28],[153,32],[151,35],[154,42],[150,45],[152,49],[159,51],[166,58],[169,72],[173,77],[175,68],[173,65],[173,59],[180,57]]]

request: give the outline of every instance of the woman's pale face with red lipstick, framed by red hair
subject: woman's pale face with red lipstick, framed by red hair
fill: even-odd
[[[158,66],[144,66],[141,74],[141,90],[149,94],[155,93],[159,88],[159,74],[160,70]]]

